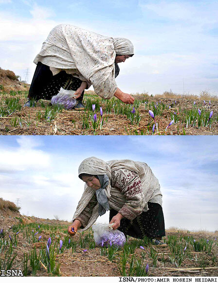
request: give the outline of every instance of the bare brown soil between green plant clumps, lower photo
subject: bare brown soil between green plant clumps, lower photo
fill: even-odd
[[[49,224],[49,225],[62,225],[64,231],[67,231],[67,227],[70,222],[59,221],[59,220],[50,220],[50,219],[39,219],[36,217],[27,217],[21,216],[18,212],[10,212],[8,210],[0,210],[0,229],[2,228],[5,234],[12,234],[13,225],[17,225],[20,221],[26,225],[29,223],[36,222],[37,225]],[[50,237],[50,232],[48,230],[41,230],[40,235],[42,235],[44,242]],[[192,236],[196,241],[201,238],[207,240],[216,240],[218,237],[218,231],[215,233],[212,232],[190,232],[190,231],[175,231],[170,232],[166,231],[165,242],[169,236],[175,235],[176,237],[183,236]],[[58,230],[56,236],[65,237],[67,232],[63,233],[63,230]],[[5,236],[7,237],[7,236]],[[18,234],[18,246],[15,247],[15,252],[17,254],[16,260],[14,261],[11,269],[21,269],[23,266],[23,254],[30,253],[33,250],[32,243],[28,243],[24,240],[22,233]],[[78,233],[73,237],[73,240],[79,241]],[[133,238],[129,238],[129,243],[134,241]],[[121,276],[119,270],[119,252],[117,257],[109,261],[108,257],[102,256],[100,253],[101,248],[87,248],[85,249],[76,247],[75,252],[72,253],[72,249],[65,249],[63,253],[56,256],[56,262],[59,263],[59,276],[62,277],[71,277],[71,276],[85,276],[85,277],[97,277],[97,276]],[[152,259],[149,257],[148,252],[141,249],[139,246],[134,251],[134,256],[139,259],[143,259],[143,263],[149,264],[149,274],[148,276],[158,276],[158,277],[207,277],[207,276],[218,276],[218,244],[215,244],[212,250],[213,257],[216,257],[217,260],[212,261],[212,255],[209,255],[205,252],[195,252],[193,253],[193,259],[184,259],[181,266],[175,266],[170,261],[170,249],[167,247],[155,247],[155,250],[158,252],[157,266],[153,266]],[[121,253],[121,251],[120,251]],[[0,258],[2,258],[0,254]],[[132,255],[130,255],[132,256]],[[129,261],[130,261],[129,256]],[[195,260],[196,259],[196,260]],[[197,261],[198,259],[198,261]],[[200,263],[203,262],[203,266],[200,267]],[[129,268],[129,263],[127,263],[127,268]],[[29,267],[29,273],[27,276],[32,276],[31,268]],[[37,270],[35,276],[53,276],[49,274],[45,266],[41,266],[40,270]]]

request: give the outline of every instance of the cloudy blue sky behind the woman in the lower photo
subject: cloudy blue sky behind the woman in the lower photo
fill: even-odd
[[[0,136],[0,197],[19,199],[23,215],[71,221],[84,190],[78,166],[91,156],[147,163],[166,228],[218,230],[217,136]]]

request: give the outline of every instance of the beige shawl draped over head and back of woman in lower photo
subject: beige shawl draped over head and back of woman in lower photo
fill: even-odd
[[[121,168],[127,168],[128,170],[135,171],[142,182],[142,189],[146,205],[144,211],[148,210],[147,202],[156,202],[162,205],[162,194],[160,190],[160,184],[158,179],[152,173],[150,167],[144,162],[135,162],[132,160],[111,160],[105,162],[96,157],[90,157],[85,159],[79,165],[78,175],[82,173],[87,173],[91,175],[104,175],[107,174],[109,177],[109,184],[105,188],[106,195],[109,199],[109,206],[116,211],[119,211],[126,202],[125,196],[116,188],[111,187],[111,173],[114,170],[119,170]],[[77,205],[76,211],[73,215],[73,220],[77,218],[87,204],[90,202],[91,198],[95,194],[95,191],[85,184],[83,195]],[[98,214],[98,203],[92,210],[91,218],[87,226],[80,231],[87,230],[91,225],[97,220]]]

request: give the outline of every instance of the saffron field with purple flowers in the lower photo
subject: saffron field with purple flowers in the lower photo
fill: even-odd
[[[162,248],[131,237],[123,248],[96,247],[91,228],[70,237],[69,222],[3,215],[1,270],[19,269],[24,276],[218,276],[218,231],[169,230]]]

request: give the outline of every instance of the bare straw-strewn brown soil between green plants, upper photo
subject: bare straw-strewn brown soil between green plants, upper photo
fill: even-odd
[[[0,117],[0,135],[151,135],[152,124],[147,131],[147,125],[151,118],[148,114],[148,109],[145,109],[145,103],[141,103],[137,108],[141,115],[141,121],[139,124],[131,124],[126,115],[114,114],[113,111],[110,114],[106,114],[105,101],[102,101],[103,117],[108,119],[103,123],[102,129],[98,127],[96,131],[93,130],[90,122],[90,129],[83,127],[83,115],[86,111],[75,110],[62,110],[56,114],[56,117],[52,121],[47,119],[38,118],[39,115],[43,116],[45,113],[45,107],[49,105],[50,101],[43,101],[44,107],[41,106],[41,102],[36,103],[36,107],[23,107],[27,93],[18,94],[15,97],[19,98],[19,103],[22,105],[20,110],[14,111],[10,115],[3,115]],[[10,94],[0,94],[0,101],[4,101],[6,97],[10,97]],[[86,105],[89,95],[85,95],[84,104]],[[134,96],[136,101],[145,100],[145,96]],[[97,96],[91,97],[92,102],[95,103]],[[188,125],[185,121],[178,121],[165,128],[171,121],[170,114],[176,112],[180,115],[180,120],[185,110],[192,109],[194,99],[187,98],[156,98],[147,97],[148,103],[154,101],[163,102],[166,105],[170,105],[176,100],[176,106],[171,109],[164,109],[162,116],[156,116],[155,119],[158,123],[158,131],[155,129],[153,135],[217,135],[218,134],[218,101],[211,101],[210,109],[213,110],[213,123],[210,126]],[[202,106],[202,101],[197,101]],[[3,102],[2,102],[3,103]],[[133,105],[134,106],[134,105]],[[200,107],[200,106],[199,106]],[[100,117],[100,114],[97,114]],[[21,121],[21,124],[18,123]]]

